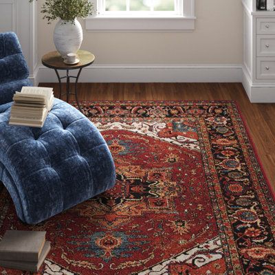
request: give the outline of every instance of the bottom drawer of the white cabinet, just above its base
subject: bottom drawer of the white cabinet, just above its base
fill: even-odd
[[[275,80],[275,58],[268,58],[268,57],[257,58],[256,78]]]

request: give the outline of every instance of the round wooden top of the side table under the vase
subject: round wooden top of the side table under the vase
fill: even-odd
[[[65,64],[61,54],[56,51],[45,54],[42,57],[42,64],[51,69],[80,69],[94,63],[95,56],[91,54],[91,52],[79,50],[76,54],[76,58],[78,58],[80,62],[75,65]]]

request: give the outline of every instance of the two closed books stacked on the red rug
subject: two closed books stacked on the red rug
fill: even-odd
[[[45,236],[45,231],[7,230],[0,242],[0,266],[38,272],[51,248]]]

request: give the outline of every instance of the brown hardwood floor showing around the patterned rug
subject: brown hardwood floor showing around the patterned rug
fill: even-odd
[[[58,91],[56,83],[41,83],[41,86],[54,87],[54,90]],[[248,124],[265,173],[275,190],[275,104],[250,103],[240,83],[79,83],[78,98],[79,100],[236,100]]]

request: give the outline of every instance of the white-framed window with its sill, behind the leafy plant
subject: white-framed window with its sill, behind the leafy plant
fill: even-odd
[[[195,28],[195,0],[90,0],[91,31],[184,31]]]

